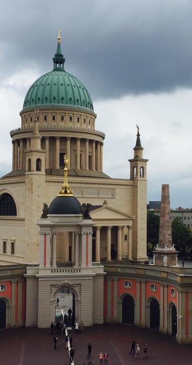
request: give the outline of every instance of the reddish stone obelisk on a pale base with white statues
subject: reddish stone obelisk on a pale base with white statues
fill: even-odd
[[[155,265],[177,266],[177,252],[172,244],[169,185],[162,185],[159,245],[154,253]]]

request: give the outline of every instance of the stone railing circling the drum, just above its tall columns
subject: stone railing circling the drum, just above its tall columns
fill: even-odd
[[[42,126],[42,125],[39,125],[39,130],[40,131],[44,131],[44,130],[62,130],[62,131],[86,131],[86,132],[90,132],[90,133],[97,133],[97,134],[100,134],[101,136],[105,137],[105,133],[101,132],[101,131],[97,131],[97,130],[91,130],[91,129],[88,129],[88,128],[85,128],[85,127],[71,127],[71,126],[58,126],[58,125],[45,125],[45,126]],[[16,132],[22,132],[22,131],[33,131],[33,126],[31,127],[23,127],[23,128],[17,128],[17,129],[13,129],[11,132],[10,132],[10,135],[12,135],[13,133],[16,133]]]

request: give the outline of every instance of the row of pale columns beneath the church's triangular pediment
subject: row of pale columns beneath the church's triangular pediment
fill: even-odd
[[[117,226],[118,228],[118,241],[117,241],[117,252],[118,252],[118,261],[122,260],[123,256],[123,247],[122,247],[122,232],[124,232],[125,226]],[[128,227],[128,247],[127,247],[127,258],[129,260],[132,259],[132,226]],[[96,245],[95,245],[95,259],[96,262],[100,261],[100,230],[101,226],[96,226]],[[107,240],[106,240],[106,260],[111,261],[111,229],[112,226],[107,226]]]

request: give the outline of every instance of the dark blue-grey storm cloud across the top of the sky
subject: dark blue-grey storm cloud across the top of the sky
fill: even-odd
[[[1,79],[52,68],[62,29],[65,69],[93,99],[192,85],[192,2],[1,1]]]

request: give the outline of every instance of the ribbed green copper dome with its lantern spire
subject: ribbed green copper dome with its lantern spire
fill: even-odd
[[[38,78],[28,90],[23,109],[33,106],[70,105],[93,110],[92,100],[85,86],[64,70],[65,59],[60,44],[53,61],[53,71]]]

